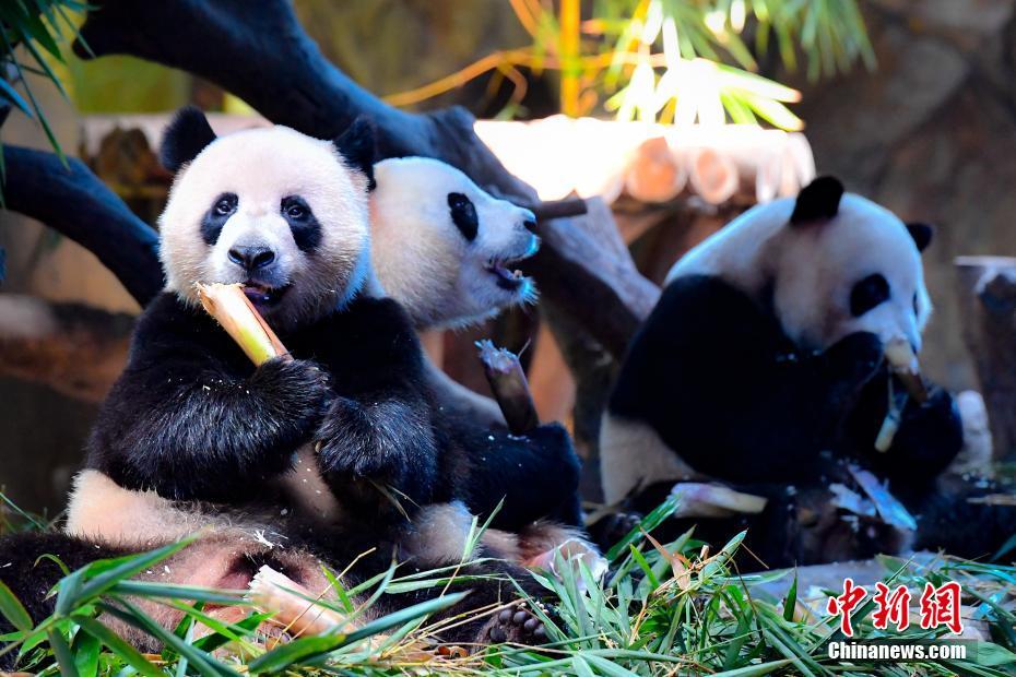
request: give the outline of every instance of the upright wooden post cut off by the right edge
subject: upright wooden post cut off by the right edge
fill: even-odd
[[[1016,453],[1016,258],[959,257],[964,340],[973,359],[994,456]]]

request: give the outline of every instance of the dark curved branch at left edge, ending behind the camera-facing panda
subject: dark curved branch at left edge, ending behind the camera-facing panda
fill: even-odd
[[[163,287],[158,234],[81,161],[3,147],[7,209],[37,218],[92,251],[144,306]]]

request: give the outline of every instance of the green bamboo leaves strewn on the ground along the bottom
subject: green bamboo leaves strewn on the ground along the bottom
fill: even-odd
[[[661,507],[643,521],[651,527],[673,506]],[[584,568],[559,567],[562,580],[536,574],[547,591],[547,644],[532,648],[496,645],[466,657],[436,655],[428,620],[458,597],[445,595],[368,622],[355,632],[305,637],[291,642],[265,641],[257,632],[265,616],[250,609],[236,623],[204,613],[209,604],[245,604],[240,593],[131,581],[187,543],[152,553],[94,562],[69,574],[56,586],[56,610],[33,623],[24,607],[0,586],[0,614],[17,628],[0,638],[17,652],[20,667],[45,675],[1014,675],[1016,674],[1016,568],[943,558],[934,568],[885,558],[886,579],[923,585],[925,580],[961,581],[967,601],[977,608],[991,642],[981,642],[976,656],[949,665],[905,665],[835,662],[826,645],[837,639],[829,619],[801,614],[796,584],[787,599],[767,598],[755,583],[776,575],[739,575],[732,562],[743,534],[710,555],[692,533],[660,545],[634,531],[611,551],[614,567],[603,582]],[[398,568],[356,590],[338,590],[334,608],[354,608],[355,594],[368,603],[381,595],[421,586],[446,587],[454,571],[413,577]],[[2,575],[2,571],[0,571]],[[335,583],[338,585],[338,582]],[[139,599],[154,601],[184,613],[174,631],[156,625]],[[871,610],[871,604],[866,611]],[[799,613],[794,613],[798,609]],[[488,610],[487,613],[492,613]],[[862,614],[867,615],[864,609]],[[109,631],[97,618],[107,614],[156,637],[165,649],[143,655]],[[796,620],[795,618],[806,618]],[[449,622],[448,620],[442,623]],[[204,623],[211,632],[200,636]],[[870,617],[858,620],[860,637],[933,639],[936,632],[911,626],[897,634],[875,631]],[[383,633],[383,634],[382,634]],[[938,636],[942,632],[937,632]],[[367,640],[375,638],[375,641]],[[972,652],[971,652],[972,653]]]

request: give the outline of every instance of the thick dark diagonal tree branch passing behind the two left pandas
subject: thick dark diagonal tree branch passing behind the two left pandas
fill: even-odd
[[[245,0],[106,0],[88,13],[81,35],[97,56],[129,54],[187,70],[273,122],[320,139],[366,114],[377,126],[381,157],[434,157],[494,194],[539,202],[475,134],[468,111],[411,114],[388,106],[324,59],[285,0],[263,0],[256,11]],[[545,247],[531,271],[542,294],[619,356],[659,290],[568,219],[544,221],[541,235]]]

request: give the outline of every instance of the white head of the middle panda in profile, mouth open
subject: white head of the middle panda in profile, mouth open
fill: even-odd
[[[417,326],[462,326],[535,300],[513,270],[540,247],[532,212],[429,158],[386,159],[374,175],[374,268]]]

